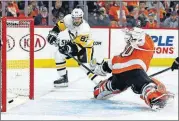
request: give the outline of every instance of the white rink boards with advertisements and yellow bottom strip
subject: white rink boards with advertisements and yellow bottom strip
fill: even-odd
[[[9,68],[28,67],[29,36],[27,29],[8,28],[7,54]],[[54,52],[57,49],[50,45],[46,37],[51,27],[35,28],[35,67],[54,68]],[[108,59],[124,49],[124,33],[119,28],[92,28],[91,34],[94,39],[94,58],[101,61]],[[22,31],[17,34],[17,31]],[[178,30],[175,29],[144,29],[154,40],[155,54],[151,66],[170,66],[174,58],[178,56]],[[67,34],[64,36],[69,38]],[[16,53],[16,54],[15,54]],[[17,54],[18,53],[18,54]],[[20,63],[20,66],[17,64]],[[67,60],[67,66],[78,66],[73,60]]]

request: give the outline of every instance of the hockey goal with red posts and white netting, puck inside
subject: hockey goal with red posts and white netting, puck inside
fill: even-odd
[[[0,19],[1,112],[15,102],[34,99],[34,21]]]

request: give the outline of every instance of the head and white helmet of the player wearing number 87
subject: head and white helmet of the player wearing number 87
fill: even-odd
[[[72,21],[74,26],[79,26],[83,22],[83,11],[80,8],[75,8],[72,13]]]

